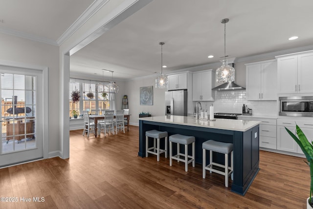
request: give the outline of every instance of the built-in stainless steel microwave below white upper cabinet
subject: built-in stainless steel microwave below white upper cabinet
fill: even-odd
[[[313,117],[313,96],[279,97],[280,116]]]

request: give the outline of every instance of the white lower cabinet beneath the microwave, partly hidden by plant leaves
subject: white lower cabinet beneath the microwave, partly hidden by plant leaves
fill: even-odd
[[[313,121],[305,120],[277,120],[277,149],[287,152],[294,152],[303,154],[300,146],[294,139],[291,138],[285,127],[288,128],[294,135],[296,135],[296,127],[298,125],[303,131],[304,135],[309,139],[313,140]],[[296,135],[297,136],[297,135]]]

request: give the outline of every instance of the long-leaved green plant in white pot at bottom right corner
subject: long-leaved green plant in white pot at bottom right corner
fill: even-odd
[[[307,137],[304,135],[300,127],[296,124],[296,132],[298,137],[296,137],[288,128],[285,127],[287,132],[290,134],[292,139],[294,139],[297,144],[300,146],[302,152],[304,153],[305,157],[307,158],[307,163],[310,167],[310,176],[311,176],[311,181],[310,181],[310,196],[307,199],[307,209],[313,208],[313,203],[312,203],[312,195],[313,195],[313,143],[309,142]]]

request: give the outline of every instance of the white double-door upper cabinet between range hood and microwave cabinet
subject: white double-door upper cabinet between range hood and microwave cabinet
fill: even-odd
[[[247,100],[277,100],[277,62],[246,64]]]

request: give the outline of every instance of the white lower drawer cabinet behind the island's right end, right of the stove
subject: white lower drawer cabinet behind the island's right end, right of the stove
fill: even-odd
[[[238,119],[261,121],[259,125],[260,147],[276,149],[276,119],[241,116],[239,116]]]

